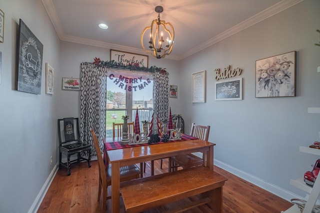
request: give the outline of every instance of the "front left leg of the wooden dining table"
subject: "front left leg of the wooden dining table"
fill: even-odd
[[[111,210],[112,213],[120,212],[120,163],[112,163],[111,168]]]

